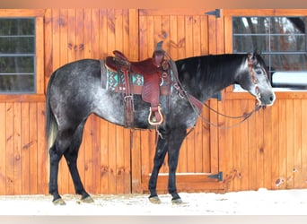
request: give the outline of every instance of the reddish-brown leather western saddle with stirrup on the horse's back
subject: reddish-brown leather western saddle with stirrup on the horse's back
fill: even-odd
[[[105,65],[112,71],[121,73],[124,76],[124,99],[125,99],[125,126],[133,127],[134,108],[133,94],[141,94],[142,99],[150,103],[148,123],[153,126],[161,125],[164,118],[160,107],[160,95],[171,94],[171,68],[168,60],[165,59],[165,52],[162,50],[162,41],[157,44],[153,57],[144,61],[131,62],[118,50],[113,51],[114,56],[108,56]],[[143,76],[144,86],[142,92],[131,88],[131,73],[138,73]],[[162,83],[169,83],[167,90],[162,91]],[[132,89],[132,90],[131,90]]]

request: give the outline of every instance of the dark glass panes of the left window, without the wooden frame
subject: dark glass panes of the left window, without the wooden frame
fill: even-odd
[[[0,92],[35,92],[35,18],[0,19]]]

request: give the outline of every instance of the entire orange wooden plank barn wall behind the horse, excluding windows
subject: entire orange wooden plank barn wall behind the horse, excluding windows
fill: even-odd
[[[85,57],[103,58],[114,49],[131,60],[144,59],[152,56],[160,40],[173,59],[230,52],[230,17],[215,20],[204,12],[48,9],[44,27],[39,28],[44,30],[45,87],[60,65]],[[216,130],[199,120],[182,145],[179,174],[223,171],[227,191],[306,188],[307,94],[277,92],[276,97],[273,107],[260,110],[233,129]],[[250,111],[254,99],[225,90],[223,101],[210,100],[210,105],[237,116]],[[44,114],[42,96],[7,100],[1,96],[0,194],[48,194]],[[235,122],[207,109],[203,115],[219,124]],[[145,191],[153,166],[154,139],[154,131],[131,134],[90,116],[78,159],[86,189],[91,194]],[[166,172],[165,163],[162,173]],[[61,194],[75,192],[65,160],[60,164],[58,182]],[[160,182],[165,190],[166,179]],[[180,185],[193,191],[191,182],[189,177]]]

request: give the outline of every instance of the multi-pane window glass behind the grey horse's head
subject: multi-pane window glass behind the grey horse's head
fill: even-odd
[[[232,52],[259,50],[273,87],[307,90],[307,17],[232,17]]]

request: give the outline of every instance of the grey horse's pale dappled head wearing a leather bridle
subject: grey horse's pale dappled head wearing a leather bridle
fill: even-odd
[[[241,87],[256,97],[260,106],[273,105],[276,96],[269,82],[267,66],[262,57],[258,53],[249,54],[244,64],[244,67],[248,67],[249,75],[241,73],[239,83]]]

